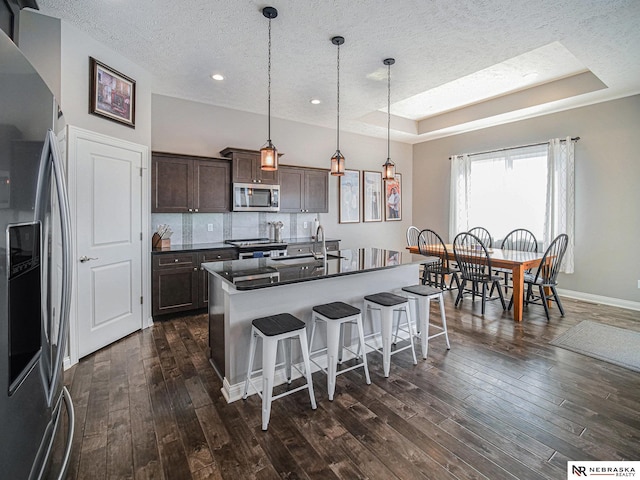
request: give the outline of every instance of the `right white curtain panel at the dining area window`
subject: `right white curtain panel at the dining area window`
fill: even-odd
[[[560,271],[573,273],[575,238],[575,157],[571,137],[549,141],[547,156],[547,205],[544,222],[545,248],[561,233],[569,236]]]

